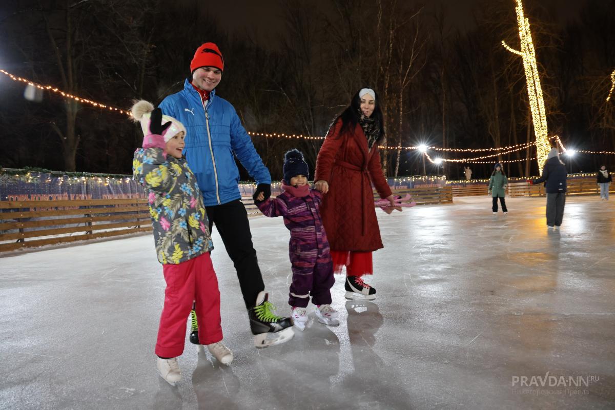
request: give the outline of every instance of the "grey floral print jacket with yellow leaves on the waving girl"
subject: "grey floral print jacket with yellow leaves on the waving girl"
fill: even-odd
[[[149,190],[158,261],[180,264],[213,250],[199,186],[185,159],[158,147],[139,148],[132,175]]]

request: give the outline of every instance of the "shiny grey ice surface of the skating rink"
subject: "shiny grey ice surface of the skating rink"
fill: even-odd
[[[569,197],[560,231],[547,231],[544,198],[507,205],[376,210],[375,301],[346,301],[336,276],[341,325],[311,313],[263,350],[213,229],[235,360],[221,366],[186,338],[175,388],[156,373],[165,284],[151,235],[4,256],[0,409],[615,408],[615,200]],[[281,218],[250,225],[288,314],[288,231]]]

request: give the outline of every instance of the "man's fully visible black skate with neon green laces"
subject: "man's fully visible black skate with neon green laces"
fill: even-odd
[[[261,291],[256,296],[256,306],[248,309],[250,329],[254,334],[254,345],[258,349],[288,342],[295,336],[293,320],[273,313],[275,307],[268,298],[269,294]]]

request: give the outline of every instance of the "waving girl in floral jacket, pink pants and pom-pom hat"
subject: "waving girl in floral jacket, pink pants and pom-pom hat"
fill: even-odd
[[[141,122],[145,135],[143,148],[135,151],[132,173],[149,190],[156,253],[167,282],[156,342],[157,368],[174,385],[181,380],[177,357],[184,350],[186,318],[194,301],[200,344],[225,365],[233,355],[222,344],[220,291],[209,256],[213,243],[205,207],[181,154],[186,128],[148,101],[136,103],[132,116]]]

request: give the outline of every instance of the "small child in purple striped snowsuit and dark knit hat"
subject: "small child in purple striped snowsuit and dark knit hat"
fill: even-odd
[[[295,326],[301,330],[308,321],[306,307],[310,296],[320,323],[339,325],[338,312],[331,307],[330,289],[335,278],[327,234],[320,219],[322,197],[319,191],[310,189],[308,175],[303,154],[292,149],[284,155],[282,194],[264,202],[261,194],[255,200],[263,215],[284,217],[284,224],[290,231],[293,282],[288,304],[292,307]]]

